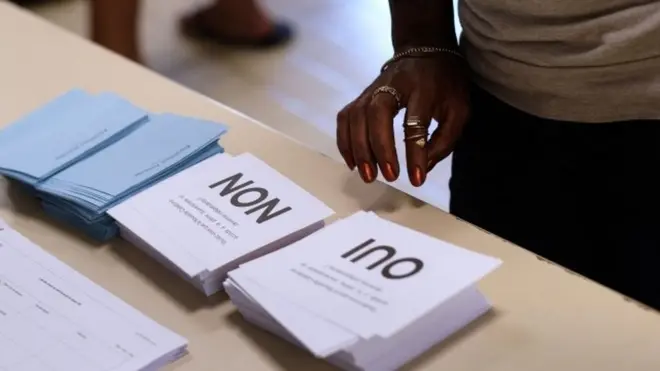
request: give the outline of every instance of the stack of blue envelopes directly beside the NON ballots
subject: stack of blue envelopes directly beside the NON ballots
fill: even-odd
[[[81,216],[96,215],[191,164],[222,151],[226,128],[173,114],[150,116],[130,135],[37,185],[40,193],[69,201]]]

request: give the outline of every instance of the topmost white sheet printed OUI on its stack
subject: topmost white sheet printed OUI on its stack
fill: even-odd
[[[264,289],[370,339],[391,337],[500,263],[358,213],[239,270]]]

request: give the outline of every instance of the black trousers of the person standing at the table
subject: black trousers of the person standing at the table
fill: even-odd
[[[546,120],[480,90],[472,103],[451,212],[660,309],[660,121]]]

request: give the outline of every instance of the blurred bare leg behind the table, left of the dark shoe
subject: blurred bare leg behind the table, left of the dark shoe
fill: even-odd
[[[92,40],[134,61],[138,45],[139,0],[92,0]]]

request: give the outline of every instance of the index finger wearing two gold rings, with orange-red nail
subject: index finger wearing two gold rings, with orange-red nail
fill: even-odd
[[[408,109],[403,124],[406,142],[406,162],[410,184],[419,187],[426,180],[428,155],[426,141],[433,117],[433,100],[413,93],[408,100]]]

